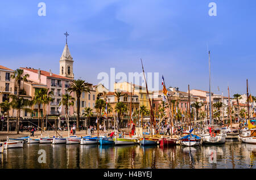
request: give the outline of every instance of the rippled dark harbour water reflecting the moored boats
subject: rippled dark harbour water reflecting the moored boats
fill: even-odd
[[[39,150],[46,163],[39,163]],[[256,168],[256,145],[226,142],[199,147],[24,144],[0,154],[0,168]]]

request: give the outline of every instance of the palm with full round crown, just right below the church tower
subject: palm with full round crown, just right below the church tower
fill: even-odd
[[[77,126],[77,131],[80,131],[80,127],[79,127],[79,122],[80,122],[80,97],[81,97],[81,93],[83,91],[85,92],[89,92],[90,93],[90,89],[88,86],[88,83],[85,83],[84,80],[82,79],[77,79],[77,80],[73,80],[73,82],[69,85],[68,91],[70,93],[72,92],[76,92],[76,97],[77,97],[77,102],[76,102],[76,113],[77,113],[77,118],[76,118],[76,126]]]

